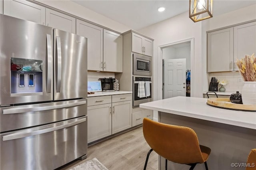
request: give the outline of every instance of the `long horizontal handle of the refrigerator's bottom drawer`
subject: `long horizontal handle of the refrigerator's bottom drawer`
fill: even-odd
[[[3,136],[3,141],[14,140],[14,139],[18,139],[18,138],[26,138],[28,136],[34,136],[34,135],[37,135],[37,134],[52,132],[52,131],[60,130],[60,129],[63,129],[63,128],[72,127],[72,126],[78,125],[80,123],[83,123],[85,121],[86,121],[86,117],[85,118],[80,118],[79,120],[75,119],[75,120],[73,120],[69,123],[65,123],[64,125],[59,125],[59,126],[56,126],[56,124],[58,124],[58,123],[54,123],[54,124],[51,125],[50,128],[47,128],[47,127],[49,127],[49,125],[46,125],[46,128],[40,129],[40,130],[34,130],[32,132],[28,131],[28,130],[24,130],[24,132],[16,132],[16,133],[13,133],[13,134],[8,134],[6,136]]]

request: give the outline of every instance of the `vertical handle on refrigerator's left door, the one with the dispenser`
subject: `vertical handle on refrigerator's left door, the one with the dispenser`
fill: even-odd
[[[46,34],[47,42],[47,82],[46,82],[46,93],[51,93],[52,85],[52,39],[50,34]]]

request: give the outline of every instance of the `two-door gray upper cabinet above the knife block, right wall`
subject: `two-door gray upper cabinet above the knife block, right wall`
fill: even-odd
[[[207,71],[238,71],[236,60],[256,53],[256,21],[207,33]]]

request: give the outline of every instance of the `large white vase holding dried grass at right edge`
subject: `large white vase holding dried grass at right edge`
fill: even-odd
[[[256,105],[256,81],[244,81],[241,94],[244,105]]]

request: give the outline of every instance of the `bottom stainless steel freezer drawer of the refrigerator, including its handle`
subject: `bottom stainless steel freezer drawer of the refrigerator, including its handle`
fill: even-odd
[[[1,134],[1,170],[50,170],[87,153],[87,116]]]

